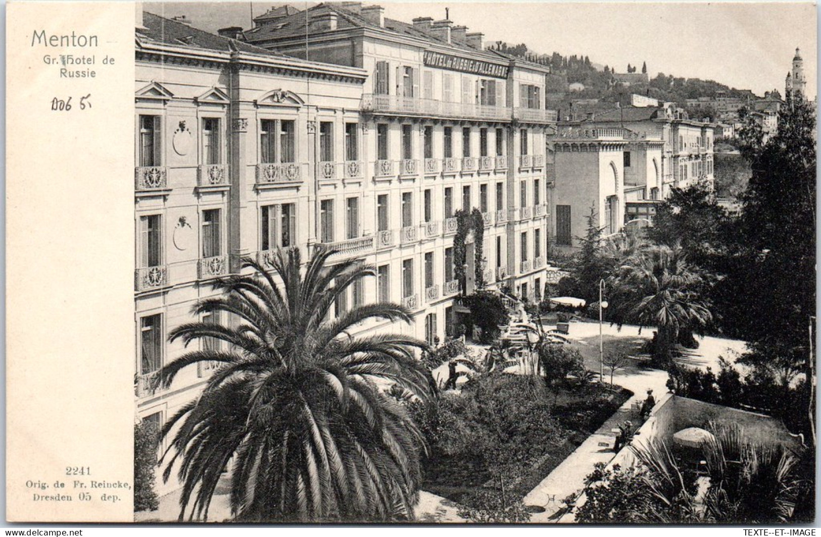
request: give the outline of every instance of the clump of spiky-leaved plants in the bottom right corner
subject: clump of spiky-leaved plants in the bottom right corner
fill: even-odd
[[[637,464],[597,466],[588,476],[580,522],[765,524],[801,521],[792,506],[811,494],[800,470],[802,454],[782,444],[745,439],[738,426],[710,423],[713,439],[702,444],[709,487],[699,492],[695,472],[681,466],[663,440],[632,444]]]

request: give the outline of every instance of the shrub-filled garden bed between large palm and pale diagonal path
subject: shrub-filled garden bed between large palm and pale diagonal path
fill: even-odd
[[[422,488],[469,506],[482,489],[519,500],[630,396],[601,385],[554,391],[525,375],[470,380],[461,394],[413,407],[429,446]]]

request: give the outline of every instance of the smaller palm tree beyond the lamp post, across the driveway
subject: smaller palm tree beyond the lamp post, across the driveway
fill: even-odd
[[[697,293],[703,283],[704,274],[687,262],[680,246],[639,248],[612,278],[612,318],[656,326],[654,360],[667,364],[681,330],[699,330],[713,319]]]

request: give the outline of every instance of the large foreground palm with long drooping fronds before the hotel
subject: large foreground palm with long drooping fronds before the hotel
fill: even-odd
[[[218,339],[229,350],[189,351],[164,366],[163,385],[198,362],[217,362],[198,398],[163,427],[173,439],[163,477],[178,463],[183,484],[180,519],[207,520],[222,471],[232,462],[230,503],[238,521],[388,521],[411,519],[418,502],[420,430],[381,387],[399,385],[416,397],[432,383],[415,360],[417,339],[349,331],[372,318],[410,322],[389,303],[355,307],[335,320],[328,313],[370,266],[339,262],[319,247],[300,271],[296,248],[273,256],[268,274],[218,280],[217,298],[193,314],[226,312],[231,325],[194,322],[172,330],[171,341]],[[223,316],[226,318],[227,316]]]

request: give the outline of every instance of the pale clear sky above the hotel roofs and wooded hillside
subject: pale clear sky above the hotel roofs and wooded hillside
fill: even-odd
[[[290,2],[304,9],[314,2]],[[375,3],[375,2],[374,2]],[[539,53],[589,56],[615,66],[647,62],[649,75],[716,80],[763,95],[783,93],[784,77],[800,47],[807,93],[816,95],[816,7],[810,2],[385,2],[385,16],[409,22],[417,16],[445,18],[484,33],[485,42],[526,43]],[[144,3],[158,15],[186,15],[193,25],[216,31],[250,28],[280,2]],[[371,2],[365,2],[371,5]],[[160,12],[163,11],[163,12]]]

